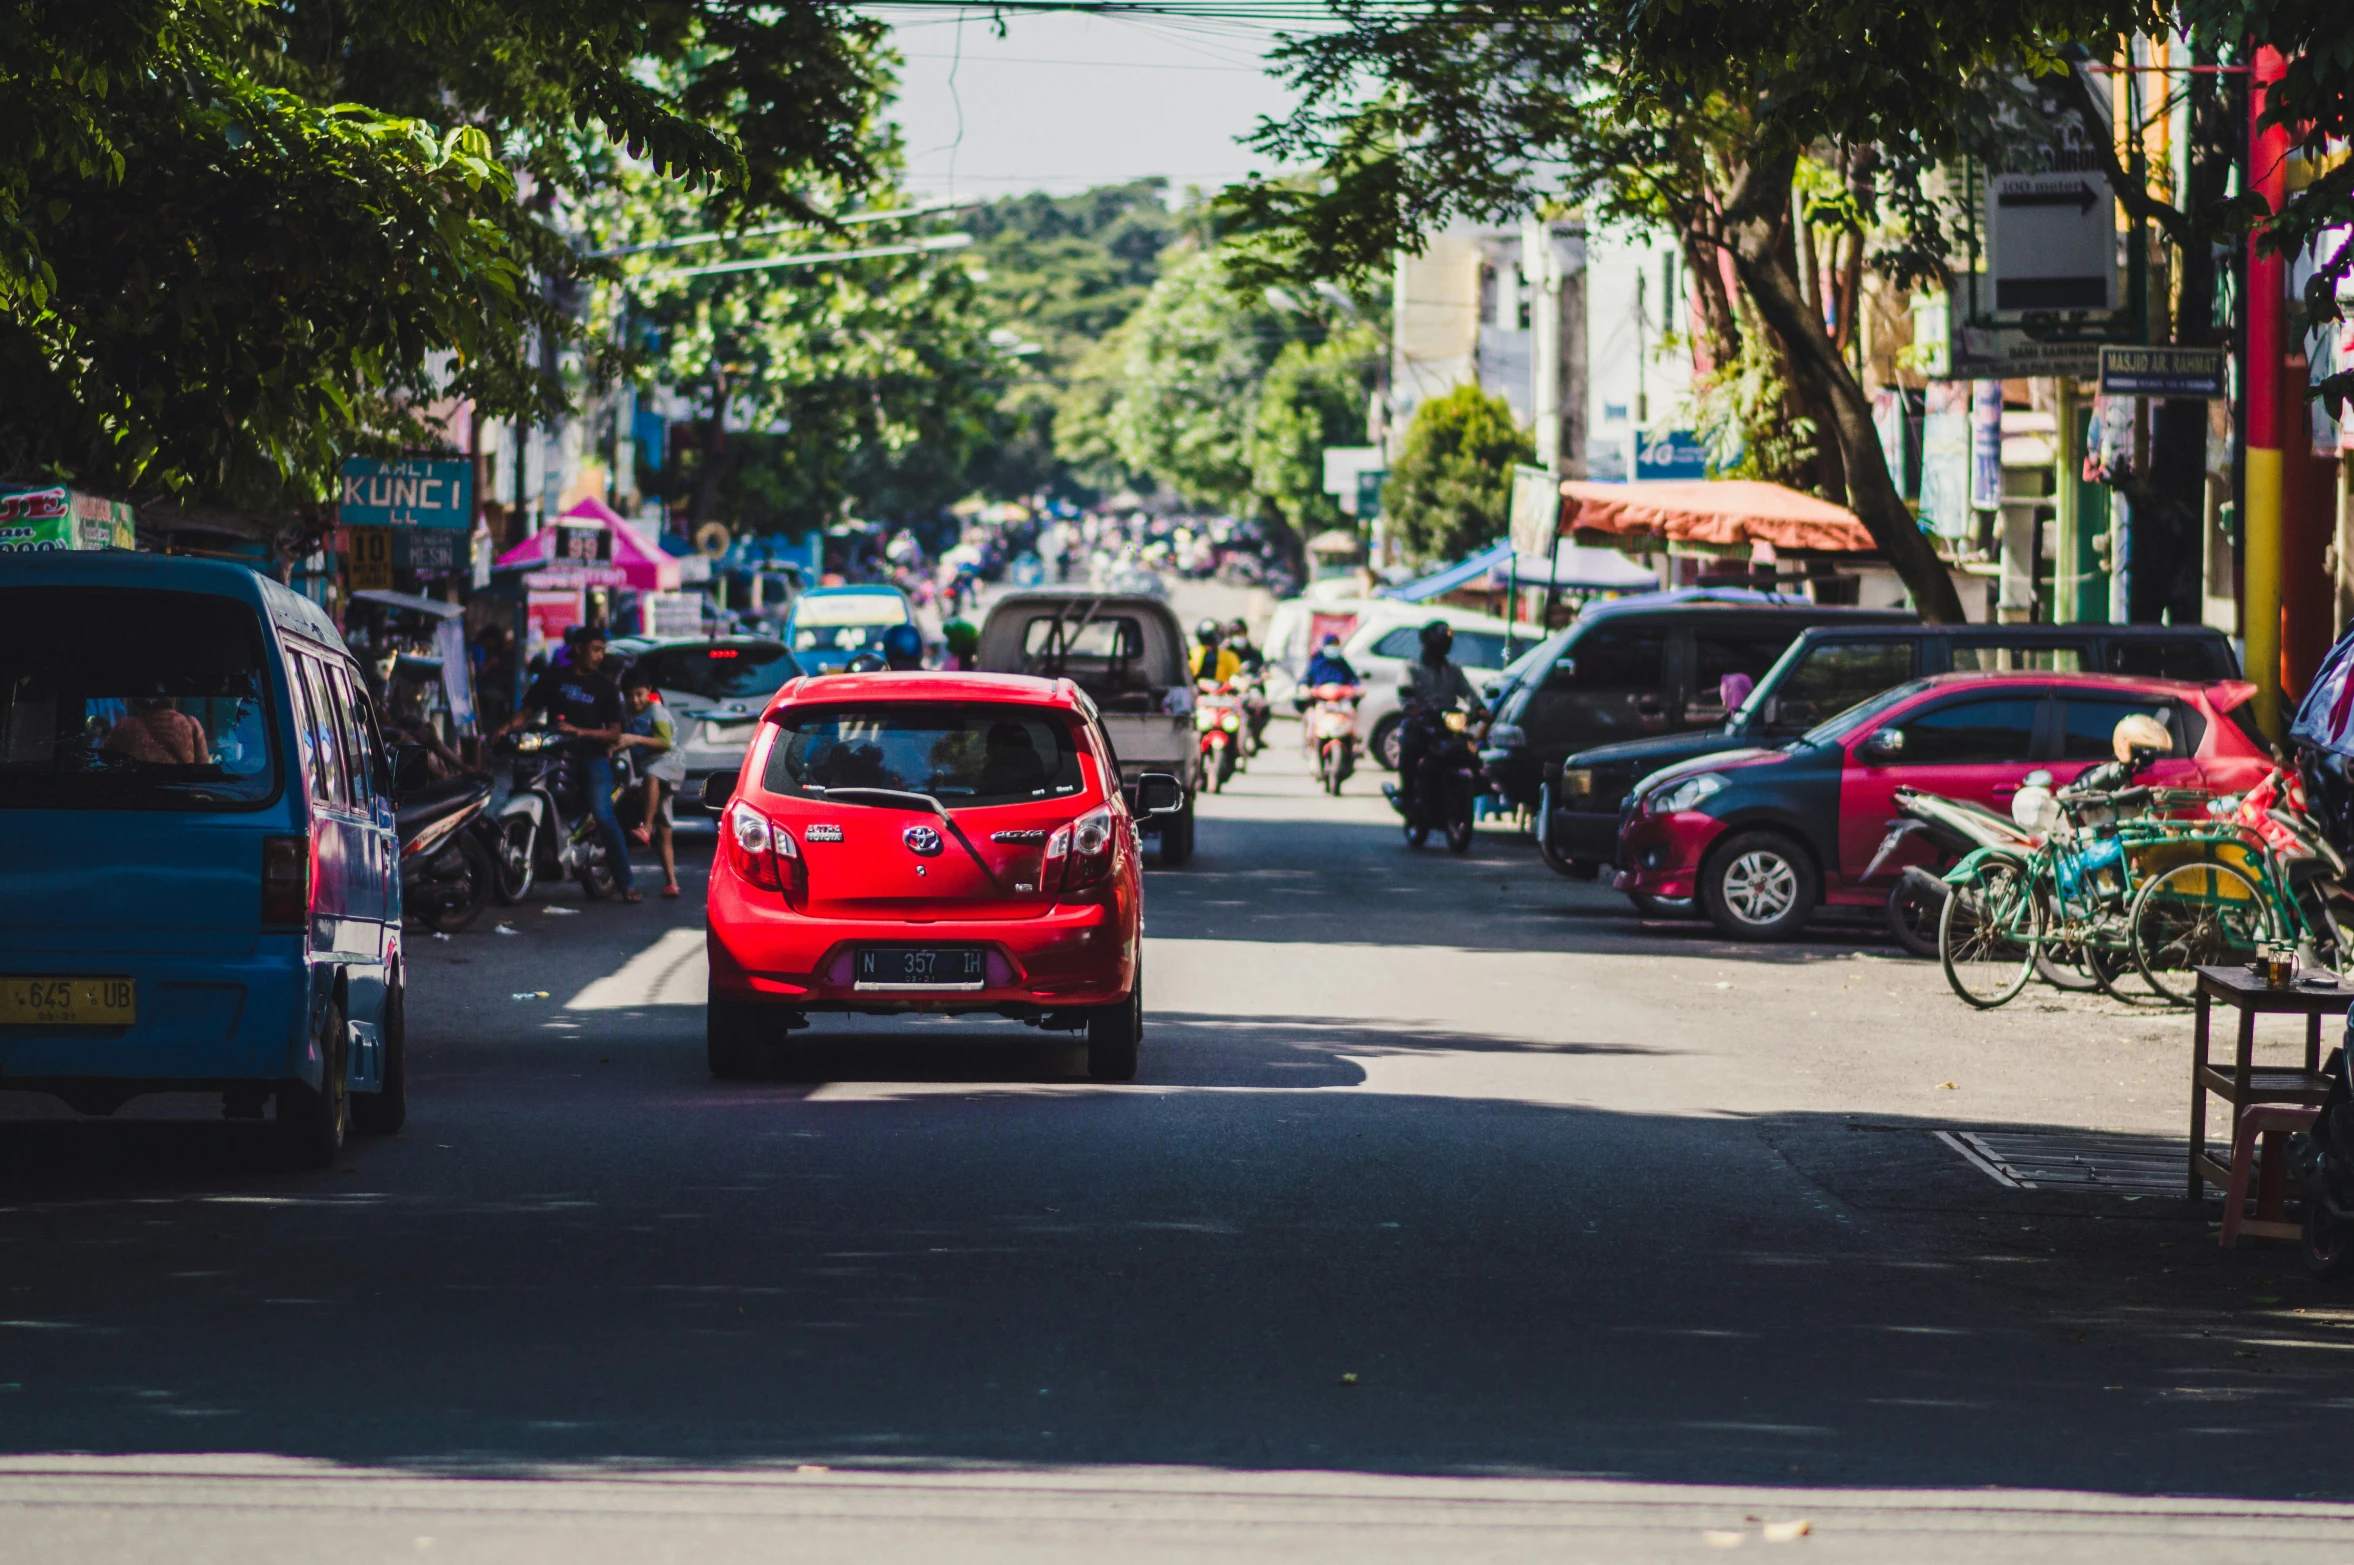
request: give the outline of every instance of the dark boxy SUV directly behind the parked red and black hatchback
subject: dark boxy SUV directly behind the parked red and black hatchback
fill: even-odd
[[[2208,626],[1923,626],[1808,628],[1721,725],[1603,744],[1565,758],[1537,805],[1537,845],[1563,875],[1587,878],[1617,857],[1620,803],[1664,765],[1796,739],[1817,722],[1930,673],[2137,673],[2236,680],[2239,659]]]

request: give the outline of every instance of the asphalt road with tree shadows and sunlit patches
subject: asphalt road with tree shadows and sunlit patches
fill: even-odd
[[[417,937],[334,1172],[0,1094],[0,1560],[2354,1549],[2354,1290],[1935,1134],[2180,1156],[2180,1014],[1643,925],[1288,751],[1205,817],[1130,1087],[996,1021],[709,1080],[694,868]]]

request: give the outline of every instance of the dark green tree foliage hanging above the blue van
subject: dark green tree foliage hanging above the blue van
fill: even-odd
[[[734,214],[869,177],[883,24],[730,0],[5,0],[0,473],[290,508],[433,398],[541,414],[619,146]]]

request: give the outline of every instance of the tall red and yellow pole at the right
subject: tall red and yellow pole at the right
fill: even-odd
[[[2248,78],[2248,188],[2279,212],[2288,193],[2288,132],[2265,125],[2265,101],[2281,80],[2281,52],[2255,52]],[[2255,682],[2255,720],[2281,737],[2281,362],[2288,358],[2288,278],[2281,257],[2248,235],[2248,445],[2241,475],[2241,635]]]

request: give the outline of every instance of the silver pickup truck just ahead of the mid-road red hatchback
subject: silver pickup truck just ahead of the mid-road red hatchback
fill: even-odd
[[[1132,593],[1019,591],[998,598],[982,624],[975,661],[984,673],[1066,678],[1095,701],[1135,805],[1137,779],[1168,772],[1186,781],[1184,805],[1137,817],[1161,838],[1161,861],[1193,857],[1193,682],[1184,633],[1158,598]]]

